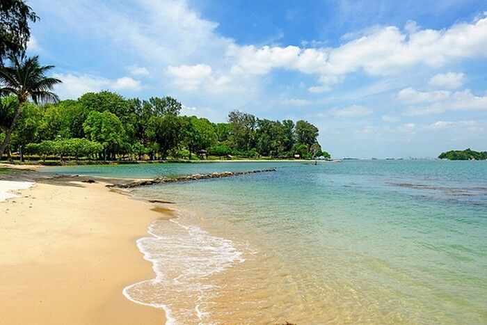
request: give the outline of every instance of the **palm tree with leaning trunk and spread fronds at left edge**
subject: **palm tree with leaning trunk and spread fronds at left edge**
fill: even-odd
[[[50,90],[54,85],[61,83],[61,80],[56,78],[49,78],[45,73],[54,65],[40,65],[39,56],[31,58],[17,58],[17,56],[10,56],[12,65],[10,67],[0,68],[0,96],[15,95],[19,100],[19,105],[15,110],[10,127],[7,129],[5,139],[0,148],[0,159],[3,151],[7,148],[8,141],[12,135],[15,123],[19,119],[22,105],[29,99],[35,104],[40,102],[58,102],[59,98]]]

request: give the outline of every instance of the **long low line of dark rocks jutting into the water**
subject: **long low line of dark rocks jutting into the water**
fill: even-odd
[[[116,183],[116,184],[110,184],[106,186],[117,187],[119,189],[131,189],[133,187],[144,187],[147,185],[154,185],[154,184],[189,182],[192,180],[207,180],[210,178],[223,178],[223,177],[232,177],[232,176],[239,176],[239,175],[249,175],[255,173],[268,173],[272,171],[276,171],[276,168],[259,169],[257,171],[236,171],[236,172],[225,171],[223,173],[193,174],[193,175],[176,176],[176,177],[158,177],[158,178],[154,178],[154,180],[137,180],[129,183]]]

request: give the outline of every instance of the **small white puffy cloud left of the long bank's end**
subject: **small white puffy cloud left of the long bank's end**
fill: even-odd
[[[173,77],[174,84],[184,90],[197,90],[200,84],[211,75],[211,67],[205,64],[168,65],[167,73]]]

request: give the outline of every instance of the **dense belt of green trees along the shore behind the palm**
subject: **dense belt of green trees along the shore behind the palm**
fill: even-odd
[[[0,100],[0,141],[18,100]],[[17,152],[78,159],[200,159],[211,157],[329,157],[317,143],[318,129],[304,120],[266,120],[232,111],[226,123],[180,116],[172,97],[125,99],[102,91],[78,100],[37,105],[26,102],[8,145]],[[199,154],[198,154],[199,153]]]

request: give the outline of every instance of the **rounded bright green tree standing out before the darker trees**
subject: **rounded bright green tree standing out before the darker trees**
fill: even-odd
[[[86,136],[91,141],[102,143],[106,154],[112,160],[122,151],[125,144],[125,129],[120,119],[109,111],[92,111],[83,123]]]

